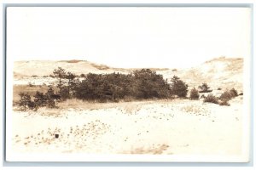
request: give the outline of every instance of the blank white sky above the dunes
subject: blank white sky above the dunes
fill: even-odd
[[[7,10],[8,59],[179,68],[249,53],[249,8]]]

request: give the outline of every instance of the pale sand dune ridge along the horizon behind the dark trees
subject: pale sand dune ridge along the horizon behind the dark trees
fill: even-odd
[[[15,61],[15,77],[49,76],[57,68],[62,67],[77,75],[89,72],[96,74],[119,72],[131,73],[136,69],[113,68],[108,65],[98,65],[86,60],[31,60]],[[168,81],[176,75],[189,84],[189,88],[197,88],[202,82],[213,89],[236,88],[242,90],[243,59],[241,58],[216,58],[206,61],[201,65],[189,69],[159,68],[152,69],[162,74]]]

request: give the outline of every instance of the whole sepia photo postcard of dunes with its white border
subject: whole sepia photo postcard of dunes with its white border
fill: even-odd
[[[251,12],[8,7],[7,161],[249,161]]]

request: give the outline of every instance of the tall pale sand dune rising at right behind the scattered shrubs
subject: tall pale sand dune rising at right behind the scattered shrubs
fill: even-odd
[[[202,82],[213,89],[236,88],[242,91],[243,59],[241,58],[216,58],[206,61],[201,65],[177,71],[165,71],[166,78],[181,77],[189,83],[190,88],[197,88]]]

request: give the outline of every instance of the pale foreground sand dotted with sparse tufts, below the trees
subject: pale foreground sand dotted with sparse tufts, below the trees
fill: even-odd
[[[231,106],[189,99],[88,104],[14,111],[17,153],[240,155],[242,97]],[[55,138],[55,134],[59,134]]]

